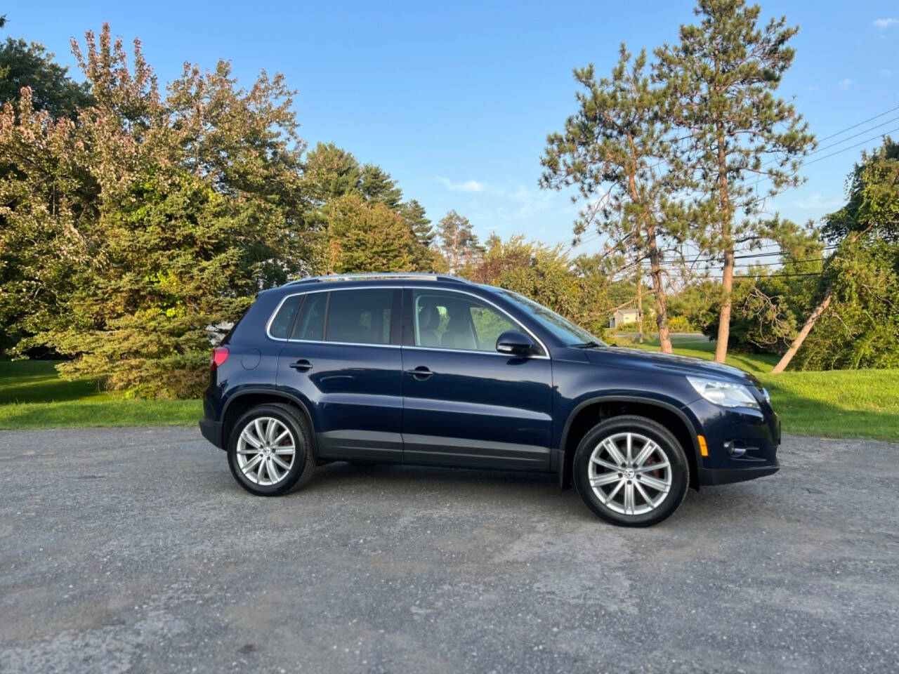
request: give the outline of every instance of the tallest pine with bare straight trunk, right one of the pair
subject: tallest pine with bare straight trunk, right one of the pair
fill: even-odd
[[[788,238],[796,227],[763,217],[764,201],[800,182],[800,158],[814,137],[792,103],[776,98],[793,62],[786,18],[758,28],[761,8],[743,0],[699,0],[699,25],[681,26],[681,41],[656,49],[664,114],[681,130],[681,191],[695,192],[692,238],[721,257],[723,300],[715,359],[727,353],[734,253]],[[764,184],[760,189],[759,185]]]

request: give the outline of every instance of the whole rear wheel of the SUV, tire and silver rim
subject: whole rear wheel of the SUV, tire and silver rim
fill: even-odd
[[[289,405],[264,404],[234,424],[228,466],[238,484],[260,496],[279,496],[305,484],[315,470],[307,423]]]

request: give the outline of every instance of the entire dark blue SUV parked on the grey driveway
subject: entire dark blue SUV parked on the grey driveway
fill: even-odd
[[[503,288],[432,274],[260,293],[212,356],[200,430],[277,495],[331,461],[527,470],[602,519],[659,522],[688,487],[777,472],[751,375],[607,346]]]

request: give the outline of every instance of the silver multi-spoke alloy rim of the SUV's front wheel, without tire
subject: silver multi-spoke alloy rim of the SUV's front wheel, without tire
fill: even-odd
[[[622,515],[658,508],[672,488],[672,465],[657,442],[633,432],[601,439],[587,469],[593,493]]]

